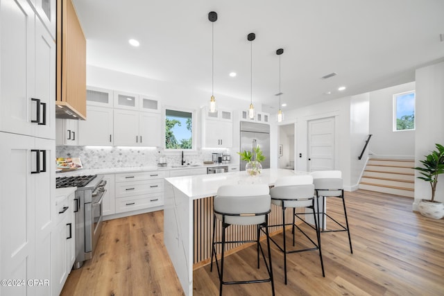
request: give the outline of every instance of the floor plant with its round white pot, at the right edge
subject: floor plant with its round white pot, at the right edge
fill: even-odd
[[[425,155],[424,160],[420,162],[424,167],[414,169],[420,171],[422,176],[418,177],[425,182],[429,182],[432,187],[432,198],[430,200],[420,200],[418,208],[423,216],[441,219],[444,216],[444,204],[435,201],[436,184],[438,184],[438,175],[444,173],[444,146],[436,143],[436,150],[429,155]]]

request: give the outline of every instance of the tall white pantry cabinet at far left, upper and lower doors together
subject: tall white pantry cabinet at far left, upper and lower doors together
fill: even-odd
[[[0,0],[0,295],[51,295],[56,0]]]

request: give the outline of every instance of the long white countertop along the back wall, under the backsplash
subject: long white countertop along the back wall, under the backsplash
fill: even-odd
[[[129,168],[94,168],[94,169],[78,169],[76,171],[58,172],[56,177],[76,176],[76,175],[101,175],[114,173],[137,173],[150,171],[171,171],[171,170],[192,170],[196,168],[211,168],[214,166],[239,166],[239,164],[204,164],[198,166],[137,166]]]

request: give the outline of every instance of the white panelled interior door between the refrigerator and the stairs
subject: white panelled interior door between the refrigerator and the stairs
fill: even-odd
[[[334,117],[308,121],[308,169],[334,170]]]

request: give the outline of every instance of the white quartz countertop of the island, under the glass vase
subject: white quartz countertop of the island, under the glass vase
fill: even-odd
[[[251,177],[245,171],[210,175],[191,175],[165,178],[167,182],[193,200],[214,196],[222,185],[267,184],[273,185],[279,177],[306,175],[307,172],[289,171],[282,168],[266,168],[258,176]]]

